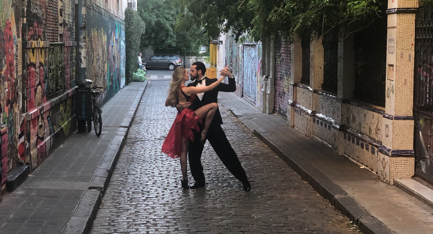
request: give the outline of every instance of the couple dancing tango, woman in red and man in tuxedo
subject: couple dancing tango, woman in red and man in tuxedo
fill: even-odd
[[[227,136],[221,128],[223,120],[218,108],[218,92],[234,92],[236,83],[228,67],[220,71],[220,79],[205,76],[206,67],[202,62],[195,62],[188,71],[184,67],[174,70],[165,106],[176,107],[178,115],[162,146],[162,152],[170,158],[181,161],[182,188],[195,189],[205,186],[205,176],[201,162],[206,140],[217,153],[223,164],[242,182],[245,191],[251,189],[244,168],[239,162]],[[194,81],[188,86],[185,82]],[[228,84],[221,83],[225,76]],[[195,183],[188,186],[187,154],[189,168]]]

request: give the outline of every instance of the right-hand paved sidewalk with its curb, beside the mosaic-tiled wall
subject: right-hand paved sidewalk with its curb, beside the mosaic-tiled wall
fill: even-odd
[[[387,185],[276,114],[265,114],[233,93],[219,102],[364,233],[433,233],[433,208]]]

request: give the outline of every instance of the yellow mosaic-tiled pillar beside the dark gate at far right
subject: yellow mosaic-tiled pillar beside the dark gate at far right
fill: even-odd
[[[418,1],[388,0],[386,105],[382,119],[382,146],[376,168],[389,184],[410,178],[414,157],[415,12]]]

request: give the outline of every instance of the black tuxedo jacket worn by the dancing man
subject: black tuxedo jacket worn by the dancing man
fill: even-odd
[[[209,86],[213,82],[218,81],[217,78],[209,79],[208,77],[205,77],[205,80],[206,80],[206,86]],[[196,86],[197,83],[198,83],[198,81],[189,83],[188,87]],[[203,95],[202,101],[200,101],[199,97],[196,97],[194,99],[194,102],[192,103],[193,109],[194,110],[199,109],[200,107],[207,105],[209,103],[218,103],[217,97],[218,97],[218,92],[220,92],[220,91],[221,92],[234,92],[234,91],[236,91],[236,82],[234,81],[234,77],[228,79],[228,84],[220,83],[217,86],[217,88],[214,88],[213,90],[205,92]],[[217,113],[215,113],[215,116],[213,117],[212,125],[213,124],[218,124],[218,125],[223,124],[223,119],[221,118],[220,109],[217,110]]]

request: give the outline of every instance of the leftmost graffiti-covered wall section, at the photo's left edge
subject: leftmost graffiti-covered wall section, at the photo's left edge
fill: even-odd
[[[18,161],[18,121],[22,108],[22,1],[0,3],[0,113],[2,115],[2,186]]]

